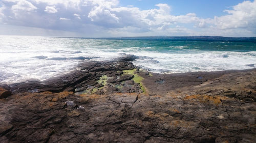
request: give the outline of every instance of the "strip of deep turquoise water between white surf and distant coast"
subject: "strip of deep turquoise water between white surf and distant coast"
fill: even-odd
[[[95,47],[125,50],[127,47],[139,47],[142,51],[155,52],[197,52],[201,51],[256,51],[256,42],[223,42],[223,41],[167,41],[167,40],[112,40],[112,39],[86,39],[95,42]],[[92,41],[91,41],[92,40]]]

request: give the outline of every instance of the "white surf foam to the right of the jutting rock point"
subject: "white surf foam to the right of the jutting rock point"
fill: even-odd
[[[232,69],[249,69],[247,65],[256,63],[254,52],[221,52],[204,51],[201,53],[157,53],[131,52],[130,54],[144,55],[159,63],[148,63],[146,60],[135,61],[136,66],[151,69],[153,72],[177,73],[193,71],[220,71]]]

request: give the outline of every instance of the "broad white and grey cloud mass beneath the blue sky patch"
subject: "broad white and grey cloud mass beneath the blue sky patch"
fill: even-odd
[[[255,1],[244,1],[215,18],[172,15],[167,4],[147,10],[121,7],[118,0],[2,0],[0,5],[0,24],[84,36],[256,36]]]

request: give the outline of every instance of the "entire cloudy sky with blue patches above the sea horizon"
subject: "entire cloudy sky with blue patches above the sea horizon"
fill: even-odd
[[[0,0],[0,35],[256,37],[256,0]]]

